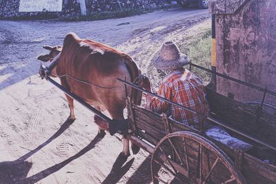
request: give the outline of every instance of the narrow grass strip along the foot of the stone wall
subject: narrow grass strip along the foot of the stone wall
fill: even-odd
[[[97,21],[103,19],[115,19],[123,17],[132,17],[139,14],[145,14],[148,12],[153,12],[153,9],[139,9],[139,8],[130,8],[123,11],[114,11],[114,12],[93,12],[86,16],[74,16],[74,17],[60,17],[61,21]]]

